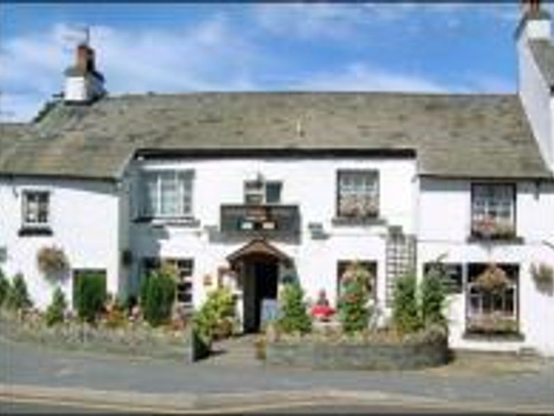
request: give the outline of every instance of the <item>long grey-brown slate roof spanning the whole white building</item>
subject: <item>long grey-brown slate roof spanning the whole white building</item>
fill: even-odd
[[[16,131],[1,126],[0,173],[118,177],[145,148],[414,149],[421,175],[551,177],[515,94],[127,95],[59,102]]]

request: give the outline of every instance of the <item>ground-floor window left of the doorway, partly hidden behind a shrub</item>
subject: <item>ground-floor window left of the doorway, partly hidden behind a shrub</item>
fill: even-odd
[[[143,259],[143,272],[159,270],[162,263],[174,272],[177,302],[183,306],[192,306],[194,260],[146,257]]]

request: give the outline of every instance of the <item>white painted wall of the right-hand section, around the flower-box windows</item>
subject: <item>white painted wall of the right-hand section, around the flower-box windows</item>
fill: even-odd
[[[463,338],[465,295],[449,299],[450,343],[470,349],[517,350],[533,347],[554,355],[554,297],[540,293],[530,275],[532,263],[554,263],[554,250],[544,241],[554,241],[554,184],[517,184],[517,236],[523,244],[481,245],[468,243],[471,191],[465,180],[422,178],[418,211],[418,270],[423,264],[447,254],[444,261],[471,263],[496,261],[519,263],[519,320],[525,340],[517,343],[485,343]]]

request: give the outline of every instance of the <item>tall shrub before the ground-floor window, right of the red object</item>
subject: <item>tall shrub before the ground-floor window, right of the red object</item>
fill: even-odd
[[[369,272],[359,263],[352,263],[341,276],[341,296],[339,297],[339,319],[343,331],[355,333],[368,327],[369,298],[367,282]]]

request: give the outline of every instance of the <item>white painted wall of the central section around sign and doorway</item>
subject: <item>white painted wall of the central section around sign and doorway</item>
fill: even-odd
[[[341,259],[378,261],[377,288],[379,296],[384,299],[386,227],[332,225],[332,218],[336,215],[339,169],[377,169],[380,177],[380,215],[391,225],[401,225],[407,233],[415,230],[413,159],[183,160],[143,162],[140,168],[160,166],[195,171],[193,210],[201,226],[190,229],[175,225],[160,228],[150,224],[133,224],[132,248],[136,259],[152,255],[194,257],[197,282],[201,282],[205,274],[215,275],[217,267],[226,263],[226,256],[249,241],[245,238],[236,243],[213,243],[208,241],[204,227],[219,227],[220,205],[243,203],[244,181],[256,178],[258,172],[266,180],[282,181],[282,203],[300,208],[301,243],[274,244],[294,258],[306,295],[314,300],[319,290],[325,288],[330,301],[335,302],[337,261]],[[328,239],[312,240],[308,223],[322,223]],[[202,284],[195,286],[195,304],[204,300],[205,293]]]

